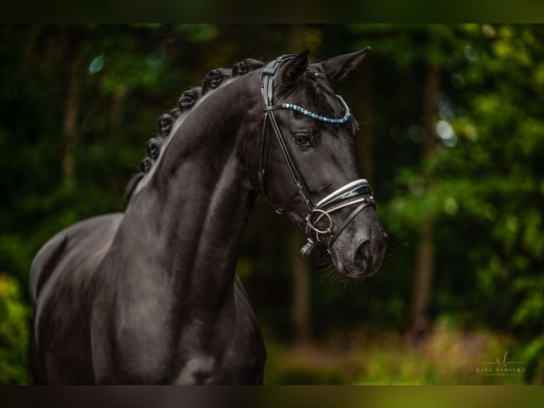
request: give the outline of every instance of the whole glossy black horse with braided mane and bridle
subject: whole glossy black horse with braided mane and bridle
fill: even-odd
[[[368,48],[214,70],[159,121],[125,213],[59,232],[31,269],[33,376],[49,384],[259,384],[266,351],[236,276],[257,194],[340,274],[379,268],[387,235],[330,82]]]

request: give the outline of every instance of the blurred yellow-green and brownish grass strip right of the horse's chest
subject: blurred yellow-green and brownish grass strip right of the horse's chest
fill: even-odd
[[[410,345],[396,334],[286,345],[267,340],[268,385],[521,385],[528,363],[516,340],[489,332],[462,332],[437,324],[428,338]],[[506,366],[497,370],[497,359]],[[507,368],[509,371],[500,371]],[[485,371],[484,369],[488,370]],[[518,371],[519,369],[519,371]]]

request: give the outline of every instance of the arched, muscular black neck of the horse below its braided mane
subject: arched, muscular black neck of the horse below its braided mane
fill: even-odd
[[[126,212],[129,222],[146,230],[141,248],[147,253],[140,255],[156,259],[153,273],[168,275],[179,289],[175,296],[184,302],[202,303],[205,294],[205,306],[212,309],[218,307],[214,299],[222,301],[232,289],[255,198],[238,129],[258,95],[244,95],[232,85],[224,85],[184,119]]]

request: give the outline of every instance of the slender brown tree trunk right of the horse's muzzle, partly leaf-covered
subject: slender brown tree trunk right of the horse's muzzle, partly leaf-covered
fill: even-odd
[[[428,161],[436,151],[436,139],[433,125],[438,116],[436,97],[440,92],[440,68],[428,63],[423,100],[423,161]],[[433,184],[433,174],[425,171],[423,174],[425,188]],[[419,248],[415,259],[415,284],[413,289],[411,326],[408,331],[410,343],[420,343],[428,334],[430,320],[427,305],[435,269],[435,245],[433,244],[433,218],[424,218],[419,230]]]

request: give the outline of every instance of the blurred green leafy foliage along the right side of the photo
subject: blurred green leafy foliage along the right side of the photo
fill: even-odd
[[[537,357],[544,353],[544,237],[538,232],[544,208],[544,122],[537,102],[544,96],[538,76],[544,51],[538,41],[540,29],[462,27],[464,61],[446,65],[451,107],[439,102],[440,122],[451,124],[453,136],[444,138],[421,168],[399,173],[386,214],[396,230],[408,233],[425,215],[433,217],[440,234],[438,279],[444,279],[450,290],[458,279],[462,279],[459,289],[470,287],[468,282],[475,289],[451,291],[450,300],[445,291],[436,290],[435,296],[443,299],[441,313],[447,304],[455,306],[450,310],[455,313],[462,298],[462,308],[470,311],[464,325],[515,333],[527,342],[525,353],[534,364],[531,372],[540,372],[541,377],[543,359]],[[402,193],[402,186],[410,190],[410,183],[422,180],[425,168],[435,175],[432,185]]]

